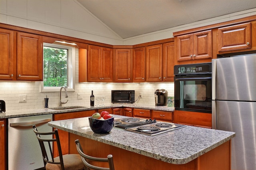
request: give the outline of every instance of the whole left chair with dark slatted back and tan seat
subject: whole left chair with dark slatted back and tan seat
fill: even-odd
[[[79,154],[62,155],[58,129],[53,132],[39,132],[33,125],[34,133],[39,141],[46,170],[84,170],[84,164]],[[55,135],[55,139],[53,138]],[[53,158],[52,143],[56,142],[59,156]]]

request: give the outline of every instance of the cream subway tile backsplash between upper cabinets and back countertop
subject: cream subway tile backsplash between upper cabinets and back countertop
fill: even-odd
[[[174,96],[174,83],[79,83],[78,82],[78,49],[76,49],[76,91],[68,92],[68,99],[63,106],[90,106],[90,95],[106,96],[105,104],[111,103],[111,90],[135,90],[135,100],[142,92],[142,98],[136,103],[154,105],[156,89],[166,89],[168,96]],[[82,94],[82,99],[77,94]],[[26,94],[26,102],[19,102],[19,95]],[[0,100],[6,102],[6,111],[14,109],[44,108],[44,98],[49,98],[48,107],[58,107],[59,92],[40,92],[40,82],[0,81]]]

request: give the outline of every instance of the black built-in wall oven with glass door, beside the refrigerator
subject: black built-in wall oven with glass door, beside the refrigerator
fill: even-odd
[[[174,66],[176,110],[212,113],[212,63]]]

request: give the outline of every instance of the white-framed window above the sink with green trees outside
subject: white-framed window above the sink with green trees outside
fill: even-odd
[[[61,86],[75,90],[75,47],[44,43],[44,78],[41,92],[58,92]]]

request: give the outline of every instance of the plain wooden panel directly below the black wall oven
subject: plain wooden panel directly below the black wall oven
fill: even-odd
[[[212,114],[175,110],[173,122],[183,125],[212,128]]]

